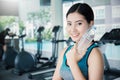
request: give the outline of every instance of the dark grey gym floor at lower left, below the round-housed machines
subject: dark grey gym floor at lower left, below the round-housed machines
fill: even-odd
[[[0,80],[44,80],[42,76],[36,76],[34,79],[28,78],[28,73],[24,73],[22,75],[14,74],[12,69],[4,69],[2,63],[0,62]]]

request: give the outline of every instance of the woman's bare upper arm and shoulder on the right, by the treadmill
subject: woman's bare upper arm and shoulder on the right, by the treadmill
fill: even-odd
[[[103,80],[104,61],[102,53],[98,48],[94,48],[88,58],[89,80]]]

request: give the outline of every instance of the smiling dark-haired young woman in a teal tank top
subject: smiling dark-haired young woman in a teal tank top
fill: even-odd
[[[94,24],[91,7],[86,3],[74,4],[66,20],[66,30],[75,44],[61,51],[53,80],[103,80],[104,63],[97,44],[91,42],[86,51],[77,51],[82,35]]]

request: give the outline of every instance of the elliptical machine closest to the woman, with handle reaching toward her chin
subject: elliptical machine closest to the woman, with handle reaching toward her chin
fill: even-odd
[[[71,38],[69,38],[68,40],[57,40],[58,35],[58,31],[60,30],[60,26],[55,26],[52,30],[52,32],[54,33],[54,37],[52,39],[52,56],[51,58],[48,60],[48,62],[46,62],[45,64],[43,64],[41,67],[43,67],[42,70],[36,71],[36,72],[32,72],[29,73],[28,78],[32,79],[35,76],[42,76],[43,79],[50,79],[51,80],[51,76],[54,73],[55,67],[56,67],[56,61],[57,61],[57,57],[58,57],[58,43],[59,42],[66,42],[68,45],[70,45]]]

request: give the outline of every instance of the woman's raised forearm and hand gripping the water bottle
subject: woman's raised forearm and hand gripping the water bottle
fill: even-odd
[[[77,62],[80,60],[80,57],[76,53],[76,45],[66,54],[67,64],[70,67],[74,80],[86,80],[81,72]]]

